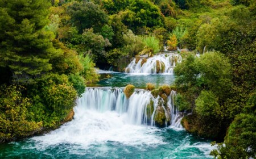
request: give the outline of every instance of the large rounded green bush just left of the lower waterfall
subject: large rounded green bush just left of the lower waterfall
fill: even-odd
[[[28,119],[42,121],[46,128],[56,128],[75,106],[77,94],[68,76],[46,74],[28,86],[28,97],[32,99]]]

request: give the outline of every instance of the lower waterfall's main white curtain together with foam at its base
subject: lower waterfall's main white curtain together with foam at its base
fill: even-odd
[[[155,135],[159,129],[147,126],[150,117],[146,106],[151,98],[150,91],[142,89],[126,99],[121,88],[88,87],[77,101],[71,122],[32,140],[40,142],[38,149],[62,143],[88,149],[92,144],[109,141],[125,145],[165,144],[161,136]]]

